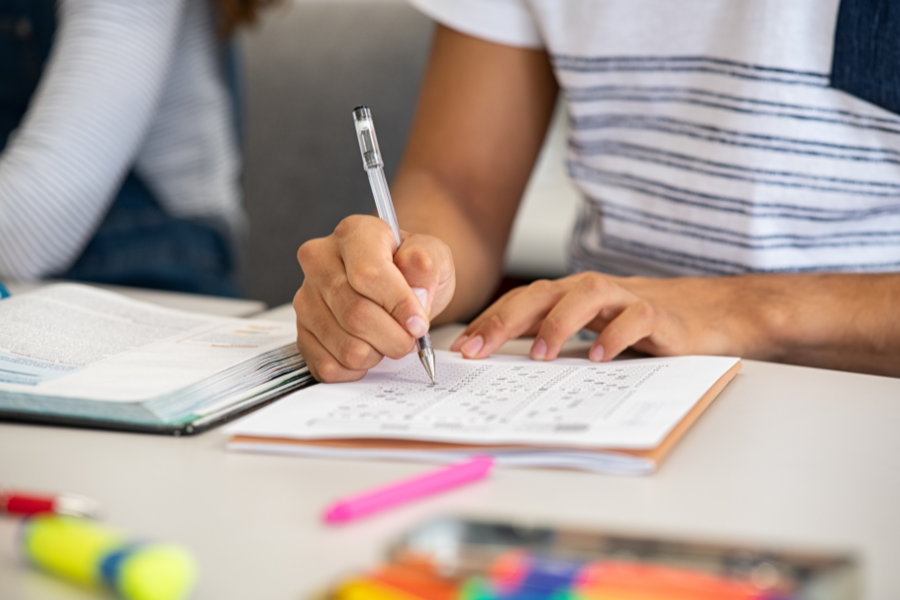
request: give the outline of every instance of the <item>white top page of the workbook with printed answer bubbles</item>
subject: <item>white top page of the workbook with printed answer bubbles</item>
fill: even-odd
[[[385,359],[358,382],[295,392],[226,432],[654,448],[737,360],[473,361],[438,351],[432,385],[412,354]]]

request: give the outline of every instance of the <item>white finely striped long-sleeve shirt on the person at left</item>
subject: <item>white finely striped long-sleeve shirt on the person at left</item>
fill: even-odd
[[[134,168],[163,208],[238,235],[239,157],[207,0],[61,0],[0,155],[0,277],[64,271]]]

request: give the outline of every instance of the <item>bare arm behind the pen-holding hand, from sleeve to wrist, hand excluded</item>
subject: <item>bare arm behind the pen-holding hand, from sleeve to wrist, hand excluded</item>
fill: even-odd
[[[456,293],[435,322],[472,316],[496,288],[557,91],[544,52],[438,26],[392,188],[403,228],[453,253]]]

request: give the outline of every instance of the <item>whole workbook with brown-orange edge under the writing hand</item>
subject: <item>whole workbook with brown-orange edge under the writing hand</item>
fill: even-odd
[[[718,356],[598,364],[436,354],[436,385],[414,355],[385,359],[360,381],[300,390],[233,423],[228,448],[650,473],[740,369]]]

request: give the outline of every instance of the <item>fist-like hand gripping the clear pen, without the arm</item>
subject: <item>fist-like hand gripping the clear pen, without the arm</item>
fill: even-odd
[[[456,277],[447,245],[404,232],[396,254],[394,246],[383,221],[354,215],[300,247],[297,346],[317,380],[357,380],[384,356],[406,356],[450,302]]]

